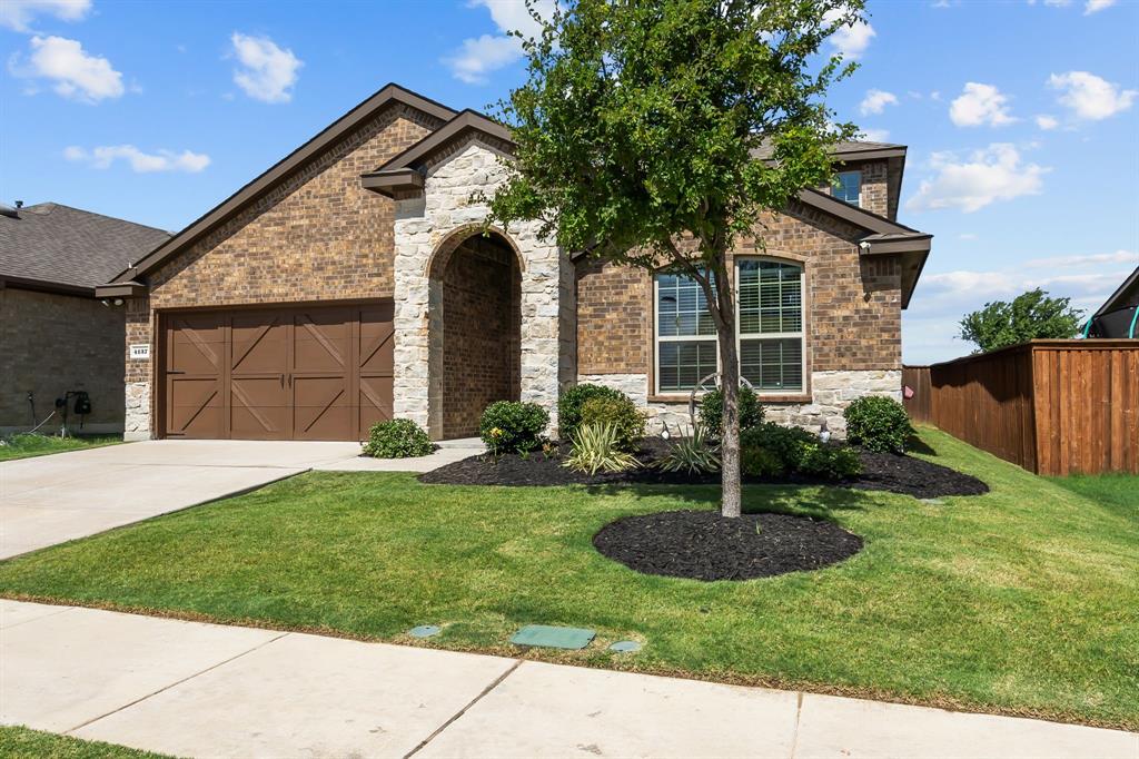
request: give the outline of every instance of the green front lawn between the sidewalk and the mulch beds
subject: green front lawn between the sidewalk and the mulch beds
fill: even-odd
[[[749,511],[833,519],[866,548],[822,571],[640,576],[590,538],[625,514],[713,508],[693,488],[424,485],[310,473],[0,564],[0,594],[516,654],[526,623],[591,627],[555,661],[1139,728],[1139,524],[932,430],[990,483],[947,498],[749,487]],[[634,638],[637,654],[608,643]]]

